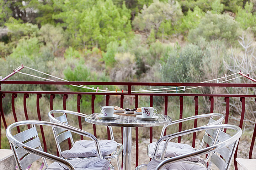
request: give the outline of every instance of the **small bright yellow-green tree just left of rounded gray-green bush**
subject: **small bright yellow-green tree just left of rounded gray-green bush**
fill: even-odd
[[[188,9],[187,15],[182,16],[181,24],[175,27],[176,33],[187,34],[190,29],[196,28],[204,17],[205,13],[198,6],[193,11]]]

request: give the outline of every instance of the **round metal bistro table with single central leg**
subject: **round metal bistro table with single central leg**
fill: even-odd
[[[156,114],[159,118],[150,121],[145,121],[134,116],[120,115],[114,119],[102,119],[98,114],[89,114],[85,117],[85,121],[96,125],[118,126],[123,128],[123,169],[131,169],[131,151],[132,151],[132,127],[150,127],[161,126],[171,123],[172,119],[169,116]]]

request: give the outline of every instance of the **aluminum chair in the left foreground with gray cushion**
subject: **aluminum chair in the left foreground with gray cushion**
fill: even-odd
[[[31,125],[32,127],[18,134],[12,135],[12,129],[24,125]],[[62,128],[76,134],[91,138],[96,146],[97,158],[81,161],[78,159],[63,159],[47,152],[43,152],[43,148],[38,137],[38,132],[35,125]],[[19,170],[27,169],[28,166],[30,166],[39,158],[43,159],[46,170],[76,170],[76,168],[80,170],[86,168],[92,168],[95,170],[108,170],[108,168],[110,168],[111,170],[114,170],[114,167],[107,160],[103,159],[97,138],[88,132],[74,129],[72,128],[72,126],[69,125],[64,126],[61,124],[38,120],[18,121],[8,126],[8,128],[6,129],[6,137],[10,142],[10,146],[12,152],[14,153],[14,158]],[[48,166],[46,159],[52,160],[54,163]]]

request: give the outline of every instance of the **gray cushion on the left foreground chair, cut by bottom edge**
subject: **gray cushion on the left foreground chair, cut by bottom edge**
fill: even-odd
[[[108,161],[106,159],[71,159],[68,160],[76,170],[108,170]],[[54,162],[46,170],[68,170],[68,166]]]

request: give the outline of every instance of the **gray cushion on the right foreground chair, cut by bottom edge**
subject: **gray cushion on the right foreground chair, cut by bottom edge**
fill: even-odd
[[[151,160],[148,163],[147,170],[155,170],[160,162],[162,162],[162,160]],[[164,168],[162,168],[161,170],[207,170],[207,168],[200,163],[185,163],[184,161],[182,161],[168,164],[164,166]]]

